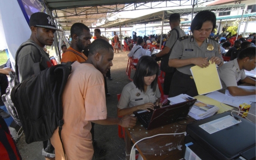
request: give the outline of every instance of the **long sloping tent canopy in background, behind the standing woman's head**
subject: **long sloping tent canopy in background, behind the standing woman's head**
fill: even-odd
[[[217,6],[195,7],[194,13],[198,13],[199,11],[203,11],[203,10],[221,12],[221,11],[228,11],[228,10],[244,9],[244,7],[245,7],[245,4],[232,4],[232,5],[217,5]],[[104,26],[104,27],[105,28],[112,28],[112,27],[119,27],[119,26],[126,26],[126,27],[134,26],[136,24],[149,23],[149,22],[155,22],[155,21],[162,21],[163,14],[164,14],[164,19],[168,20],[170,15],[173,14],[173,13],[179,13],[182,16],[182,15],[190,15],[192,12],[193,12],[192,8],[159,11],[159,12],[155,12],[155,13],[144,15],[142,17],[134,18],[134,19],[131,19],[131,20],[114,23],[112,25],[108,25],[108,26]]]

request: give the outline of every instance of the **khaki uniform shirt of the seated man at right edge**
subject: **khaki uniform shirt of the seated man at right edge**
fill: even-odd
[[[246,78],[244,69],[239,69],[237,58],[229,61],[218,68],[222,89],[229,86],[237,86],[239,80]]]

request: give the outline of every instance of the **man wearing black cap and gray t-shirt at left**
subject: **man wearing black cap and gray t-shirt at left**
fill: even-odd
[[[36,46],[29,44],[23,46],[20,52],[15,55],[18,58],[20,82],[25,81],[34,75],[34,63],[40,62],[44,68],[52,66],[49,54],[47,54],[43,48],[45,45],[52,45],[56,30],[62,31],[56,28],[50,15],[42,12],[37,12],[31,15],[29,27],[31,30],[31,35],[25,43],[34,43],[40,50],[38,50]],[[42,154],[45,156],[45,158],[55,159],[54,148],[50,141],[44,141],[43,146],[44,148]]]

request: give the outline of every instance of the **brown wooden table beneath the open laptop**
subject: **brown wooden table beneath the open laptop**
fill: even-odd
[[[193,122],[194,119],[187,119],[187,123]],[[180,123],[185,123],[180,121]],[[171,123],[165,126],[158,127],[153,130],[146,130],[139,121],[132,129],[125,129],[125,151],[126,159],[130,159],[131,140],[133,143],[145,137],[151,137],[162,133],[181,133],[186,131],[186,125]],[[140,141],[136,148],[140,155],[145,160],[150,159],[181,159],[183,151],[186,149],[184,144],[185,135],[159,135],[154,138]]]

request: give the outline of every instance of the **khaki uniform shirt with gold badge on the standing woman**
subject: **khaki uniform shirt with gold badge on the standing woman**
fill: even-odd
[[[223,62],[220,54],[220,45],[218,39],[213,37],[206,38],[203,44],[199,47],[193,36],[180,37],[174,44],[172,53],[169,59],[190,59],[190,58],[206,58],[210,60],[212,57],[219,57]],[[187,65],[177,68],[181,73],[192,75],[190,68],[195,65]]]

